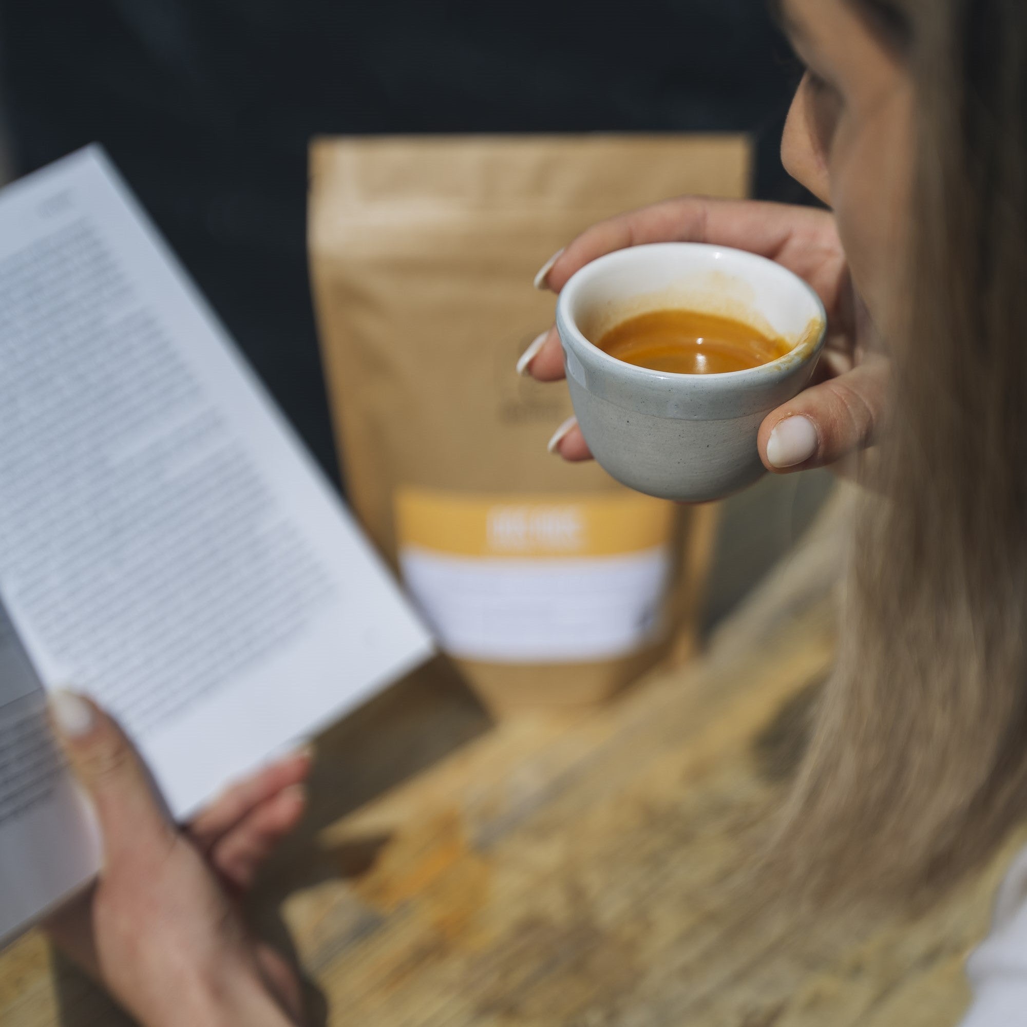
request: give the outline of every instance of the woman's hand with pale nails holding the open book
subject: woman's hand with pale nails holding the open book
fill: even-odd
[[[146,1027],[298,1023],[295,975],[250,937],[234,897],[301,816],[309,756],[233,789],[183,833],[113,720],[70,693],[51,719],[105,857],[96,885],[47,923],[58,946]]]

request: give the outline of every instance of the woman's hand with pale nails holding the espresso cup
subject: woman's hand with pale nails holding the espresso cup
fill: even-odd
[[[698,197],[668,200],[593,226],[542,268],[536,286],[559,293],[575,271],[604,254],[668,241],[734,246],[767,257],[805,279],[824,301],[828,344],[816,380],[760,428],[760,457],[769,470],[833,464],[872,445],[887,362],[852,291],[834,217],[825,211]],[[518,367],[538,381],[564,377],[555,328],[535,340]],[[561,426],[550,449],[567,460],[592,457],[573,421]]]

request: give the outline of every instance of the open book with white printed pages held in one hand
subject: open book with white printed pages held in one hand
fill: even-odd
[[[430,651],[97,148],[0,194],[0,943],[99,869],[46,688],[184,816]]]

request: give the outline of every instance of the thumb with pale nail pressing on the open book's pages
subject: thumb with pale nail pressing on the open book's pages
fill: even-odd
[[[108,865],[127,850],[175,837],[149,771],[121,728],[96,703],[69,691],[50,695],[50,721],[89,797]]]

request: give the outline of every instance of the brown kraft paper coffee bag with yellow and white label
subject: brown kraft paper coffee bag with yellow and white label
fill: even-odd
[[[349,500],[495,711],[609,696],[691,638],[709,515],[546,452],[532,277],[594,222],[746,194],[737,137],[326,139],[310,256]]]

